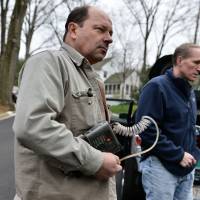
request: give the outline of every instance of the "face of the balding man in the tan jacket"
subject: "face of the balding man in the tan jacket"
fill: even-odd
[[[101,61],[112,43],[112,22],[108,16],[89,8],[88,19],[74,31],[74,48],[88,59],[90,64]]]

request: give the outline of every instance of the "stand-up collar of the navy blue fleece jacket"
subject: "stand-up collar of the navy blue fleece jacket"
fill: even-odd
[[[173,68],[168,69],[165,74],[168,77],[168,79],[174,83],[178,90],[180,90],[183,93],[183,95],[189,99],[192,89],[190,83],[183,78],[175,77],[173,75]]]

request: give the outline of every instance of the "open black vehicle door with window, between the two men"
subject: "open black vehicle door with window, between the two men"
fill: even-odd
[[[107,98],[107,104],[110,105],[110,110],[112,111],[111,124],[114,122],[119,122],[124,126],[132,126],[134,124],[136,100]],[[122,158],[133,153],[133,138],[116,136],[122,145],[122,150],[118,153],[118,156]],[[145,200],[139,161],[140,157],[122,161],[123,170],[116,176],[117,200]]]

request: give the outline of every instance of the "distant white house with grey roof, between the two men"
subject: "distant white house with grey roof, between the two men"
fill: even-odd
[[[134,88],[139,87],[139,77],[132,69],[112,74],[105,81],[106,97],[130,99]]]

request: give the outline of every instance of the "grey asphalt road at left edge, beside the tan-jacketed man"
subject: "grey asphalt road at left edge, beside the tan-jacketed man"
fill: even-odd
[[[12,200],[14,190],[13,117],[0,121],[0,200]]]

